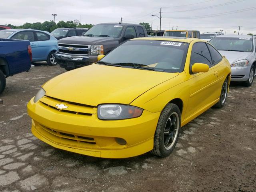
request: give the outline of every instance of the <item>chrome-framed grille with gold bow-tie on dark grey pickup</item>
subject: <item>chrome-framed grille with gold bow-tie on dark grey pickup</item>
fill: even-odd
[[[70,55],[88,55],[90,45],[77,45],[77,44],[58,44],[58,50],[60,53]]]

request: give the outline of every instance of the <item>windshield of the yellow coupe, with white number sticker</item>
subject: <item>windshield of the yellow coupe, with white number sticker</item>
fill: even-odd
[[[182,72],[188,44],[162,40],[132,40],[114,49],[98,63],[121,67]]]

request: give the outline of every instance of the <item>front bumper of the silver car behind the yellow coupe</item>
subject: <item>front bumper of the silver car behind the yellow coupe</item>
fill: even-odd
[[[231,67],[231,81],[247,81],[251,66]]]

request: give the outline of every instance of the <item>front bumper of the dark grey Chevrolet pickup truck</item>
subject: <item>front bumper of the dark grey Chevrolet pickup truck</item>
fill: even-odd
[[[76,55],[62,54],[59,52],[55,53],[55,59],[56,59],[56,62],[60,65],[60,67],[67,68],[67,69],[75,69],[75,68],[87,66],[94,62],[97,62],[96,55],[76,56]]]

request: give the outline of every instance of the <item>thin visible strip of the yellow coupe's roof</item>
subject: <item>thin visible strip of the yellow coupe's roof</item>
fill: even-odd
[[[131,40],[159,40],[159,41],[178,41],[184,43],[190,43],[194,40],[200,40],[198,38],[187,38],[187,37],[140,37]],[[202,42],[206,42],[204,40],[200,40]]]

